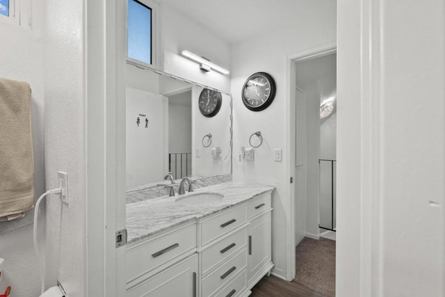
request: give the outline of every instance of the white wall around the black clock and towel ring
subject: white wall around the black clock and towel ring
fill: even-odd
[[[291,8],[289,8],[291,9]],[[268,40],[254,36],[232,46],[232,95],[234,102],[234,153],[248,145],[250,135],[260,130],[264,143],[255,150],[254,162],[234,161],[234,180],[270,184],[273,192],[274,273],[286,277],[286,222],[290,218],[289,176],[286,173],[286,56],[336,40],[336,2],[331,0],[296,2],[295,24],[267,33]],[[245,79],[254,72],[270,73],[277,83],[275,101],[268,109],[253,112],[241,101]],[[273,149],[283,149],[283,161],[275,162]],[[290,251],[290,250],[289,250]]]

